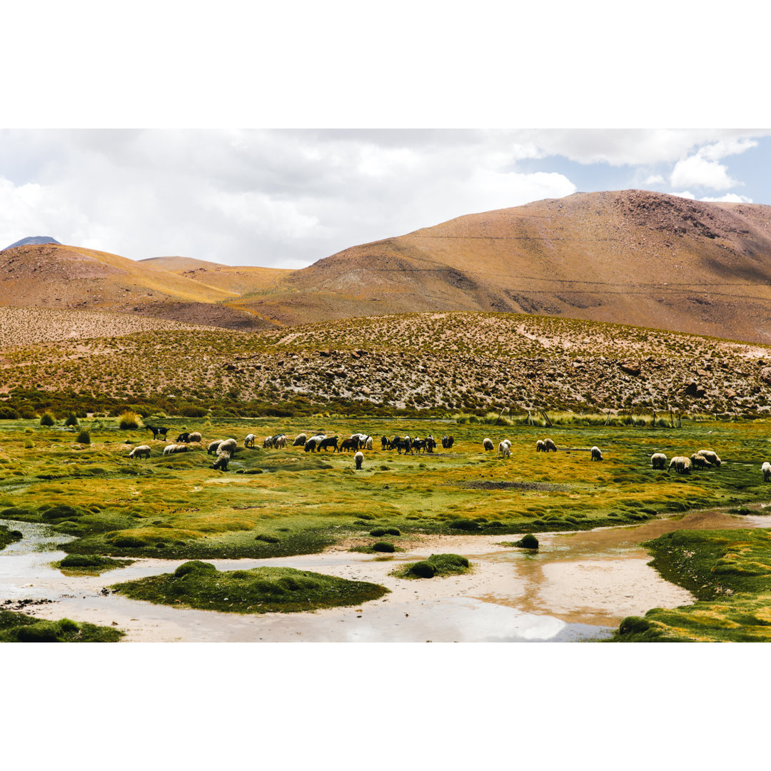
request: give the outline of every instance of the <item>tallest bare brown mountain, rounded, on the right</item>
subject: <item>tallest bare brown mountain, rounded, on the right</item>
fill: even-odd
[[[771,342],[771,207],[578,193],[352,247],[281,284],[239,305],[290,325],[513,311]]]

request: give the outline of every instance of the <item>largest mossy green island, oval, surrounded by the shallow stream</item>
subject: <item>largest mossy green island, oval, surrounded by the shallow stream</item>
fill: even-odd
[[[293,613],[335,608],[376,600],[389,591],[378,584],[347,581],[292,567],[217,571],[214,565],[200,561],[186,562],[174,574],[126,581],[111,588],[134,600],[227,613]]]

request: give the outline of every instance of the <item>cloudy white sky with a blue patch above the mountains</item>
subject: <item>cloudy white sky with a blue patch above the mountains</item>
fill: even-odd
[[[303,268],[577,191],[771,204],[769,160],[769,130],[8,129],[0,246]]]

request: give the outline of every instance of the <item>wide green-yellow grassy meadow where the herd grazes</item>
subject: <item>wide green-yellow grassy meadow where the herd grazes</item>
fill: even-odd
[[[87,423],[87,422],[86,422]],[[51,524],[77,538],[71,554],[110,557],[274,557],[309,554],[354,538],[372,545],[395,529],[410,534],[523,534],[585,530],[641,522],[658,513],[763,500],[760,463],[771,454],[769,424],[684,423],[680,429],[565,426],[549,429],[557,446],[597,444],[605,460],[591,463],[586,449],[536,453],[544,429],[458,425],[442,421],[345,419],[167,419],[170,436],[199,429],[211,439],[247,433],[452,433],[451,450],[399,455],[365,452],[356,472],[350,453],[304,453],[300,448],[244,449],[227,472],[197,446],[163,456],[150,432],[121,431],[114,419],[90,425],[90,445],[76,431],[37,421],[0,423],[0,518]],[[511,440],[512,457],[484,452],[482,439]],[[146,443],[149,460],[130,449]],[[379,442],[375,444],[379,447]],[[709,447],[719,469],[668,475],[650,465]]]

